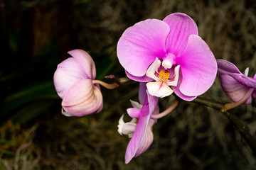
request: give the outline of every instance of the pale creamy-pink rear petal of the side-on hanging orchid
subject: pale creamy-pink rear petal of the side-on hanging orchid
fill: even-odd
[[[139,154],[142,154],[143,152],[145,152],[146,149],[148,149],[150,147],[150,145],[152,144],[152,142],[154,140],[154,135],[153,135],[153,132],[152,132],[153,125],[154,125],[154,120],[150,119],[149,124],[146,127],[145,135],[142,138],[142,142],[140,143],[134,157],[137,157],[137,156],[139,156]]]

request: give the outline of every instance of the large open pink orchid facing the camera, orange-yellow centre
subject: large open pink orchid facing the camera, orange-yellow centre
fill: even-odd
[[[174,91],[192,101],[212,86],[217,73],[213,53],[198,36],[196,23],[184,13],[127,28],[118,41],[117,57],[130,79],[154,81],[147,88],[158,97]]]

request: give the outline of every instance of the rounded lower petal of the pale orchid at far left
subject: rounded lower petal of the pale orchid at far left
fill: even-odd
[[[102,102],[101,91],[92,80],[81,79],[65,94],[62,106],[70,115],[83,116],[100,112]]]

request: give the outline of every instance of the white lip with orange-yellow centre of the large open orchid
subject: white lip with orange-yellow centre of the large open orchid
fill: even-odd
[[[169,86],[177,86],[180,65],[174,68],[173,74],[171,74],[171,67],[171,62],[169,63],[166,60],[161,62],[158,58],[149,66],[149,69],[146,71],[146,76],[155,80],[146,84],[149,94],[164,98],[174,92]]]

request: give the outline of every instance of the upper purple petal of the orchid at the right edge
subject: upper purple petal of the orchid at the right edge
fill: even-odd
[[[241,73],[238,67],[235,66],[235,64],[228,62],[226,60],[217,60],[217,64],[218,74]]]

